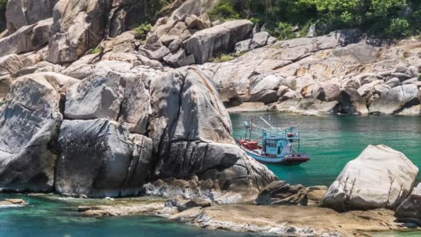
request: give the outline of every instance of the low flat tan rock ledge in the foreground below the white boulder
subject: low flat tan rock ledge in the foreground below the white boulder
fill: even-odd
[[[337,213],[317,207],[230,205],[188,209],[170,220],[275,236],[355,236],[402,229],[394,222],[393,211],[386,209]]]

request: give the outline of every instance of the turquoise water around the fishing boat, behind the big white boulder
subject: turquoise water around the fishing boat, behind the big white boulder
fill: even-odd
[[[234,137],[244,137],[243,121],[265,125],[259,119],[271,117],[280,128],[295,126],[303,137],[301,148],[312,160],[301,166],[268,165],[290,184],[330,185],[348,161],[368,144],[384,144],[403,152],[421,167],[420,116],[298,116],[268,112],[231,115]],[[418,182],[421,182],[418,177]]]

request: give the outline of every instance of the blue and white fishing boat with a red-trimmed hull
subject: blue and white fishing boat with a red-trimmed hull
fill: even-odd
[[[300,152],[300,131],[294,127],[286,129],[274,128],[265,119],[260,117],[269,127],[260,127],[251,122],[244,122],[246,134],[244,138],[236,139],[238,146],[247,155],[268,164],[285,166],[298,165],[310,161],[310,156]],[[251,134],[260,136],[251,139]],[[296,148],[294,147],[296,144]]]

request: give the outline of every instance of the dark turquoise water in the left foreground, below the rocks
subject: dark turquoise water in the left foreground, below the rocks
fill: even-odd
[[[228,231],[207,231],[152,216],[88,218],[80,216],[77,211],[78,204],[87,201],[59,200],[55,196],[52,197],[54,198],[0,193],[0,200],[22,198],[28,202],[27,207],[0,209],[0,236],[257,236]]]

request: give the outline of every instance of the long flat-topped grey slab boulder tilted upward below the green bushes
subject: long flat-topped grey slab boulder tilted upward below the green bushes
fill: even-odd
[[[213,28],[200,30],[186,40],[184,46],[189,53],[195,55],[197,63],[203,64],[218,53],[232,52],[237,42],[249,37],[251,30],[251,21],[228,21]]]

